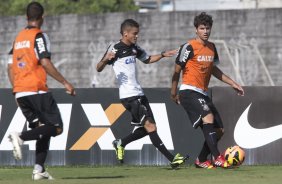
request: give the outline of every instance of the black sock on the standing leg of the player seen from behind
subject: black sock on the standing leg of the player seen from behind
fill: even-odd
[[[42,137],[36,141],[35,164],[38,164],[42,167],[42,172],[45,171],[44,163],[49,150],[50,138],[51,137]]]

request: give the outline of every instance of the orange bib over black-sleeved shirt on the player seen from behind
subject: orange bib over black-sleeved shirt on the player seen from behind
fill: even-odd
[[[40,29],[28,27],[16,37],[12,49],[13,92],[47,91],[46,72],[40,59],[50,58],[44,33]]]

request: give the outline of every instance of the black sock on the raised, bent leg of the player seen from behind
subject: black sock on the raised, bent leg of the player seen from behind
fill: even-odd
[[[57,135],[57,127],[52,125],[43,125],[32,130],[22,132],[20,138],[23,141],[39,140],[42,137],[51,137]]]

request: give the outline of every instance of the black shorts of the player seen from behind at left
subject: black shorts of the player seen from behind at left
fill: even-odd
[[[17,102],[29,124],[39,121],[63,128],[59,108],[51,93],[20,97]]]

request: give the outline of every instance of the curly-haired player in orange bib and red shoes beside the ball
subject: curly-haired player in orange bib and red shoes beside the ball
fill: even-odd
[[[196,16],[194,26],[196,38],[181,45],[172,76],[171,98],[181,104],[186,110],[194,128],[200,127],[205,142],[195,162],[199,168],[228,167],[224,157],[220,155],[217,142],[223,135],[224,129],[218,111],[207,95],[211,75],[229,84],[244,95],[242,87],[225,75],[216,64],[219,63],[214,43],[208,41],[212,17],[205,12]],[[177,95],[177,86],[182,71],[182,84]],[[214,157],[213,162],[208,160],[209,154]]]

